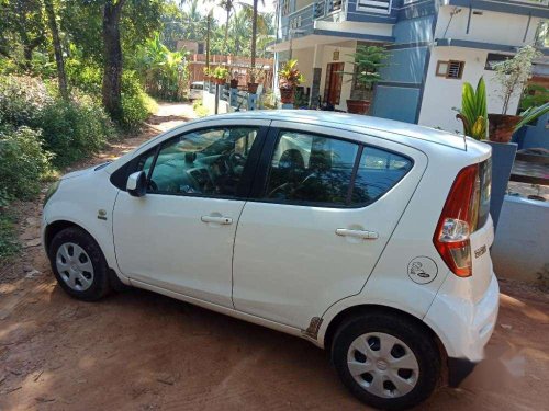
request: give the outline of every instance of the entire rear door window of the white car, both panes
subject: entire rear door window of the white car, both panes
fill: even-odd
[[[264,199],[295,205],[361,207],[411,169],[407,157],[321,135],[281,130]]]

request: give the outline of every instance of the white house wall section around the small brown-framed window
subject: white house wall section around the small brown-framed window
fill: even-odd
[[[456,118],[457,112],[452,107],[461,106],[461,88],[463,82],[470,82],[473,88],[484,77],[486,82],[488,112],[501,113],[503,101],[501,87],[494,81],[494,72],[484,70],[486,57],[490,52],[462,48],[462,47],[433,47],[429,71],[423,94],[419,124],[430,127],[441,127],[447,132],[462,133],[461,122]],[[494,52],[495,53],[495,52]],[[460,60],[466,61],[463,77],[460,80],[446,79],[435,76],[437,61]],[[519,95],[509,102],[508,114],[514,114],[518,107]]]

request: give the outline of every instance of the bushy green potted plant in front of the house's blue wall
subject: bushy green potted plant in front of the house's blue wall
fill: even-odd
[[[357,46],[357,52],[351,54],[355,67],[354,72],[343,72],[344,75],[356,76],[357,84],[372,87],[382,80],[379,73],[380,68],[386,67],[384,62],[389,57],[389,52],[382,46]],[[370,110],[369,100],[347,100],[347,111],[354,114],[367,114]]]

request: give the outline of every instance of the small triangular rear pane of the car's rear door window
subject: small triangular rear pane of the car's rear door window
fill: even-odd
[[[412,161],[405,157],[365,147],[358,165],[351,204],[367,205],[385,194],[412,169]]]

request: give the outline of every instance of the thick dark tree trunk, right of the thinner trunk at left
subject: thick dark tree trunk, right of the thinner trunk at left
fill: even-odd
[[[120,16],[125,0],[108,1],[103,9],[103,105],[111,117],[121,121],[122,111],[122,46]]]

